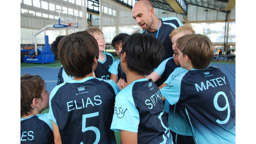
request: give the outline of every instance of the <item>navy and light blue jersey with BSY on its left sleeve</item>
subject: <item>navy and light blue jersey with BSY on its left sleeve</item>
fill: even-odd
[[[115,98],[111,130],[138,133],[138,143],[169,143],[171,137],[162,95],[147,78],[133,81]]]

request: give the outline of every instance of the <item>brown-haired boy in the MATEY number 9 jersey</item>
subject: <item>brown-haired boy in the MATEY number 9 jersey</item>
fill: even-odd
[[[179,62],[188,70],[160,89],[171,104],[184,110],[197,143],[235,143],[236,111],[227,76],[209,66],[214,55],[210,39],[200,34],[177,40]]]

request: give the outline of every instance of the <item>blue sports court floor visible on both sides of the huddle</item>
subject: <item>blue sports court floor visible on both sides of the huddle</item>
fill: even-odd
[[[211,66],[215,66],[219,68],[228,78],[230,87],[231,87],[231,95],[235,104],[236,98],[236,64],[234,63],[210,63]],[[57,76],[58,76],[59,68],[45,67],[45,66],[35,66],[35,67],[27,67],[20,68],[20,76],[23,74],[32,74],[32,75],[40,75],[44,79],[46,83],[46,90],[51,92],[52,89],[57,85]]]

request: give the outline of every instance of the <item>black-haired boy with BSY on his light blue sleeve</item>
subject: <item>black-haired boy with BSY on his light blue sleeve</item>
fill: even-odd
[[[145,75],[163,58],[161,42],[150,34],[134,33],[123,43],[121,67],[128,86],[116,96],[111,130],[120,131],[122,144],[169,143],[161,93]],[[147,61],[147,63],[145,63]]]

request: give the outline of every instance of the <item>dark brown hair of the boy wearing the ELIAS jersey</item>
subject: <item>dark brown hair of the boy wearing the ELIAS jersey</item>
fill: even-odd
[[[86,31],[66,35],[58,44],[58,57],[68,76],[83,78],[99,57],[98,42]]]

